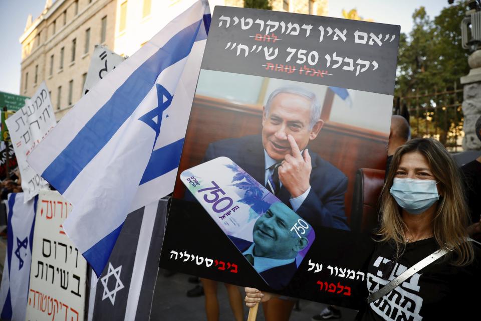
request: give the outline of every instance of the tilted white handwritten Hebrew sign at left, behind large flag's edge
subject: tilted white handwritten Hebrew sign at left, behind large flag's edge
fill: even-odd
[[[28,201],[47,186],[47,182],[30,167],[27,156],[57,124],[45,82],[39,86],[32,98],[26,101],[25,106],[5,122],[17,155],[25,201]]]

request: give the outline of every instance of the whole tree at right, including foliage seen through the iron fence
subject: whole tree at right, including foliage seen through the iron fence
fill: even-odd
[[[467,10],[467,2],[460,1],[430,19],[420,7],[412,15],[413,29],[401,34],[399,43],[395,95],[420,96],[403,100],[416,108],[410,118],[413,134],[436,136],[445,145],[456,144],[462,127],[462,95],[435,93],[460,89],[459,78],[469,72],[460,28]]]

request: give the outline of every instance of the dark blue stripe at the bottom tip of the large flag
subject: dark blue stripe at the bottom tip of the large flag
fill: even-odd
[[[110,232],[109,235],[98,241],[90,249],[82,253],[82,255],[85,257],[87,262],[89,262],[90,266],[94,270],[95,274],[97,274],[97,277],[100,277],[100,274],[102,274],[102,271],[107,265],[110,253],[114,248],[115,242],[119,237],[123,225],[124,223],[122,223],[118,228]]]

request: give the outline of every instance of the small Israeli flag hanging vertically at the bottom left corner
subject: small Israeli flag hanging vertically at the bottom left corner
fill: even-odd
[[[25,321],[36,206],[37,197],[24,203],[24,193],[9,195],[7,255],[0,288],[2,320]]]

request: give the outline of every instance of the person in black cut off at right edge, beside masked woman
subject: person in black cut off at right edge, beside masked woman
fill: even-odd
[[[476,135],[481,140],[481,116],[476,121]],[[481,156],[461,167],[466,188],[466,200],[471,214],[469,235],[481,240]]]

